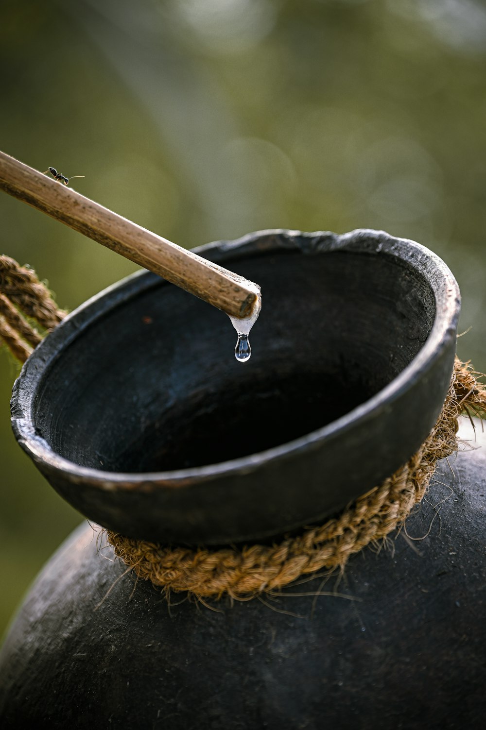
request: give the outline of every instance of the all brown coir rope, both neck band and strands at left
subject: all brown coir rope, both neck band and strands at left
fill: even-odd
[[[29,320],[49,331],[64,317],[35,272],[0,256],[0,340],[20,361],[41,339]],[[457,450],[457,419],[486,415],[481,373],[455,358],[451,383],[436,425],[417,453],[384,482],[324,525],[305,529],[278,545],[208,550],[145,542],[106,531],[115,556],[137,577],[198,598],[251,598],[276,591],[302,575],[343,569],[350,556],[400,528],[422,501],[439,459]]]

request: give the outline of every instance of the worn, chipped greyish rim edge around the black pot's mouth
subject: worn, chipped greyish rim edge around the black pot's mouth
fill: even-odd
[[[231,253],[235,254],[234,258],[243,257],[245,253],[247,255],[255,253],[255,242],[259,243],[259,250],[302,250],[304,253],[312,251],[319,254],[349,251],[371,255],[391,255],[406,262],[427,280],[436,299],[436,314],[428,338],[411,362],[370,399],[325,426],[284,444],[247,456],[221,461],[218,464],[206,464],[165,472],[109,472],[91,466],[80,466],[56,453],[37,433],[33,418],[37,388],[45,377],[46,369],[50,368],[76,337],[96,323],[96,320],[115,309],[118,304],[128,301],[134,293],[149,291],[150,288],[161,285],[160,277],[142,269],[110,285],[70,312],[35,348],[23,364],[12,391],[12,429],[20,446],[39,465],[41,470],[60,471],[69,477],[72,483],[98,486],[103,490],[107,488],[110,490],[133,489],[147,482],[153,486],[174,488],[203,483],[205,480],[221,475],[237,474],[242,471],[248,473],[268,461],[289,456],[295,451],[302,453],[303,450],[313,450],[327,437],[345,434],[357,423],[373,418],[377,410],[384,407],[385,404],[390,404],[404,391],[411,388],[417,379],[429,369],[430,364],[438,359],[443,350],[448,347],[450,337],[456,336],[460,314],[460,291],[457,281],[447,264],[422,244],[369,228],[357,228],[342,235],[327,231],[303,233],[302,231],[276,228],[255,231],[232,241],[209,243],[193,250],[194,253],[208,255],[208,258],[218,261],[218,263],[221,260],[221,264],[224,265],[225,262],[230,264]],[[146,278],[143,290],[140,289],[139,283],[141,277]],[[164,280],[162,280],[163,284]],[[262,294],[265,306],[265,292]]]

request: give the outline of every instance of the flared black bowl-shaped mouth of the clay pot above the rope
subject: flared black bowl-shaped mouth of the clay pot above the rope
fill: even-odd
[[[61,496],[132,537],[215,545],[316,523],[435,423],[457,283],[376,231],[263,231],[199,252],[262,286],[247,364],[226,315],[140,272],[37,347],[15,435]]]

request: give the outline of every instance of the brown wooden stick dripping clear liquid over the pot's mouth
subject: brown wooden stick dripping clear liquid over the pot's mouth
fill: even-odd
[[[257,284],[137,226],[3,152],[0,189],[229,315],[245,318],[259,307]]]

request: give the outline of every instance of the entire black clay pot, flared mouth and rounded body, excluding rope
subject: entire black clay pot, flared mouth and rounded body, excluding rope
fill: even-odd
[[[105,526],[269,539],[417,449],[452,371],[457,284],[428,250],[374,231],[270,231],[203,253],[262,285],[248,364],[224,315],[137,274],[37,348],[13,426],[54,488]],[[321,576],[278,598],[168,606],[83,526],[7,637],[2,726],[479,727],[486,438],[476,445],[439,463],[428,502],[443,500],[441,520],[425,502],[411,537],[352,558],[346,597],[316,595],[336,588]]]

